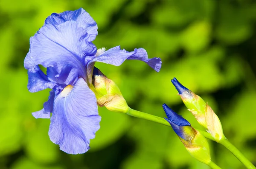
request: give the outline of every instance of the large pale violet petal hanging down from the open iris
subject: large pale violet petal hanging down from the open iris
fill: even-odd
[[[96,97],[82,78],[79,78],[67,96],[63,96],[62,92],[54,100],[49,127],[50,140],[70,154],[87,152],[90,139],[99,130],[101,119]]]

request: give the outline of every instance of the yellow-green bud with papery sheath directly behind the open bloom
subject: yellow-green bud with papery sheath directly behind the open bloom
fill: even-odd
[[[97,104],[114,112],[127,113],[129,107],[118,86],[108,79],[98,68],[93,68],[92,85],[90,88],[96,95]]]

